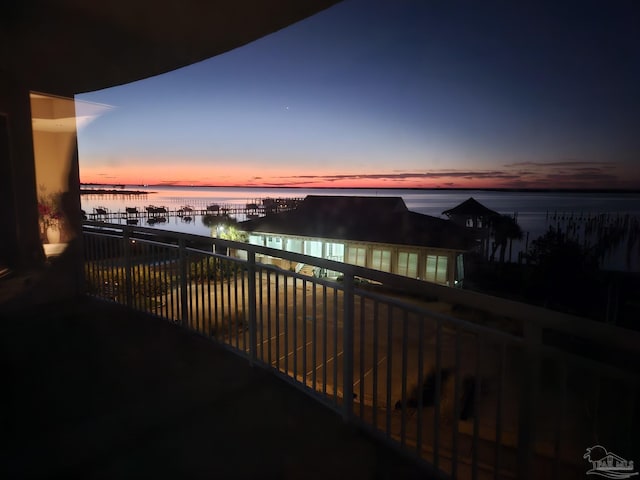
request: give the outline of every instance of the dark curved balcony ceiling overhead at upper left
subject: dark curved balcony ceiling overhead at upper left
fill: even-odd
[[[339,0],[20,0],[0,7],[0,74],[73,95],[219,55]]]

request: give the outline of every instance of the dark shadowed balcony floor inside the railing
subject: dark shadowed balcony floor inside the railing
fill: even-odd
[[[0,321],[1,478],[428,478],[269,372],[88,298]]]

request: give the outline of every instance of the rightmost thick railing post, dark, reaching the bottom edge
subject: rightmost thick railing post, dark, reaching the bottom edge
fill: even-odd
[[[540,385],[540,346],[542,329],[531,322],[524,323],[524,352],[522,362],[520,412],[518,419],[518,478],[535,477],[533,452],[537,421],[538,389]]]

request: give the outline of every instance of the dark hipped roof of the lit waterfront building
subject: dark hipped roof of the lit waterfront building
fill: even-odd
[[[248,232],[466,250],[468,232],[411,212],[400,197],[309,195],[295,210],[242,222]]]

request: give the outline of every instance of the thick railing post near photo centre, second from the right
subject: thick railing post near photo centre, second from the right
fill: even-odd
[[[342,416],[345,422],[353,416],[353,274],[345,273],[343,282],[343,370],[342,370]]]

